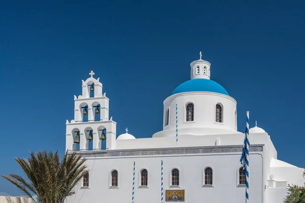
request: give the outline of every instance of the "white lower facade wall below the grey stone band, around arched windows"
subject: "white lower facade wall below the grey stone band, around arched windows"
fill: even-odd
[[[204,202],[213,203],[243,203],[245,202],[245,187],[239,186],[237,182],[237,172],[240,167],[239,158],[239,152],[88,158],[89,188],[81,189],[78,185],[76,195],[69,198],[67,202],[131,201],[133,161],[136,161],[135,202],[159,202],[161,199],[161,160],[163,160],[164,188],[170,188],[170,171],[172,168],[179,168],[179,188],[186,188],[186,202],[202,202],[204,200]],[[263,202],[262,154],[259,152],[251,153],[251,163],[251,201]],[[202,170],[206,166],[214,168],[214,187],[202,186]],[[110,172],[114,168],[119,172],[118,188],[109,187]],[[138,174],[142,168],[148,170],[148,188],[138,187]]]

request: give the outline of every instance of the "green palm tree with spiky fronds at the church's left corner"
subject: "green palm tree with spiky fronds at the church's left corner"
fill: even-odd
[[[42,151],[36,154],[30,152],[29,158],[15,160],[21,166],[27,180],[15,174],[2,177],[32,199],[33,195],[37,196],[37,202],[40,203],[63,202],[66,197],[75,193],[74,187],[87,172],[84,164],[86,159],[75,152],[66,152],[62,161],[57,151]]]

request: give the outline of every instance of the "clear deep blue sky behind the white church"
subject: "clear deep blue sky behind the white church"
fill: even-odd
[[[293,3],[292,3],[293,2]],[[238,130],[264,128],[278,158],[305,167],[302,1],[7,1],[0,7],[0,174],[14,157],[65,151],[73,95],[93,70],[110,98],[117,134],[162,129],[163,100],[211,63],[211,79],[237,100]],[[139,124],[140,123],[140,124]],[[0,192],[20,192],[0,178]]]

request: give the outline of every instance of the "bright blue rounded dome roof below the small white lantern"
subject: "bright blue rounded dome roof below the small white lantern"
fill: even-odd
[[[188,80],[180,84],[174,89],[172,95],[181,92],[216,92],[230,96],[227,90],[217,82],[202,78]]]

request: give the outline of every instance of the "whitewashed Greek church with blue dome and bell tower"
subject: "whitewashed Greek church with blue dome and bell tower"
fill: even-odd
[[[163,101],[163,130],[142,139],[128,130],[117,136],[109,98],[91,71],[66,123],[66,150],[82,154],[88,172],[67,202],[244,203],[245,133],[237,131],[236,100],[210,80],[210,65],[201,54],[191,62],[191,79]],[[303,168],[279,160],[265,130],[250,128],[250,144],[250,202],[283,202],[288,184],[304,184]]]

